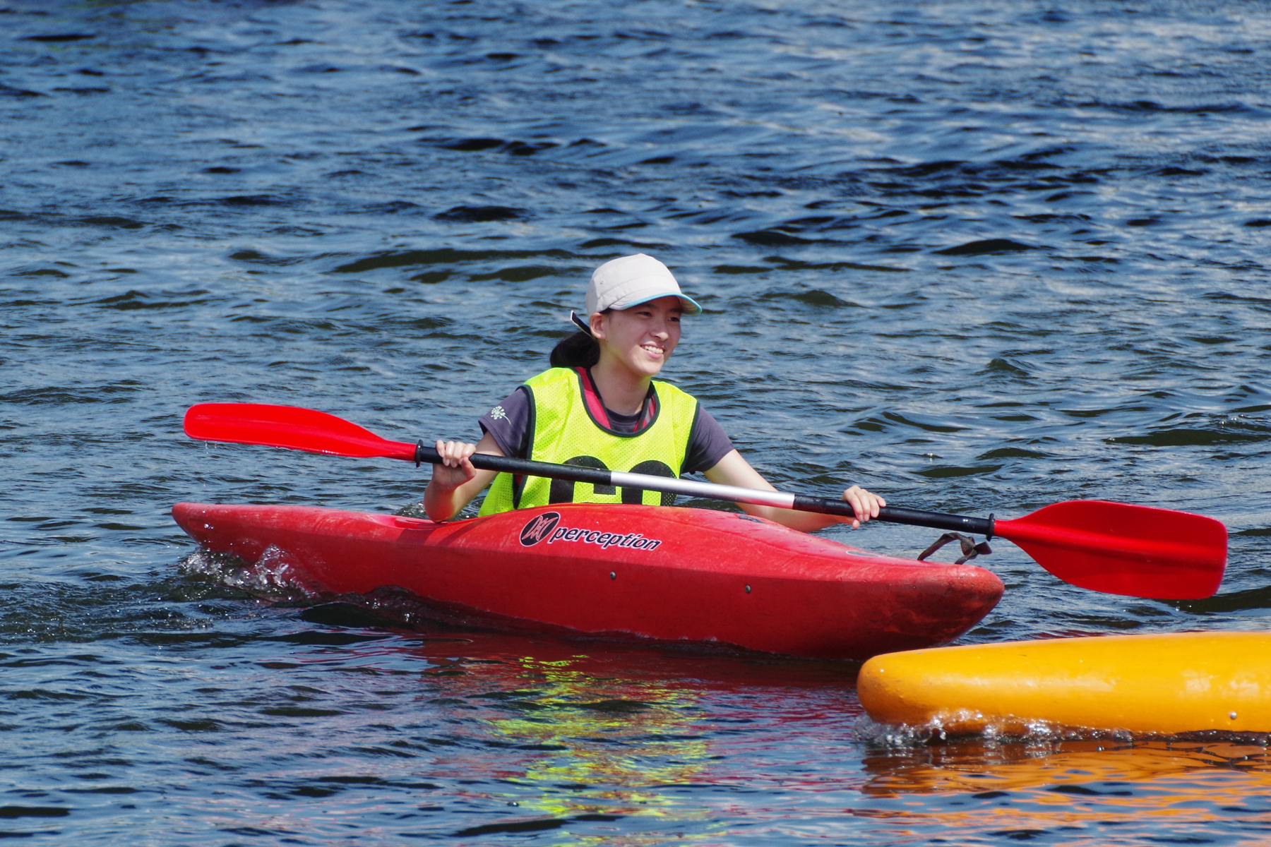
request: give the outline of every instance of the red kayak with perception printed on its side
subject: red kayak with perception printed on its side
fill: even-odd
[[[433,523],[178,503],[205,547],[286,565],[314,597],[411,592],[444,620],[867,659],[951,641],[1002,598],[982,568],[897,559],[746,514],[555,504]]]

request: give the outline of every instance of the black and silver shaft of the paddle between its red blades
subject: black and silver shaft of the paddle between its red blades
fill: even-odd
[[[414,448],[414,461],[441,464],[441,456],[432,447],[426,447],[419,442]],[[695,480],[676,479],[674,476],[651,476],[648,474],[628,474],[624,471],[606,471],[600,467],[581,467],[578,465],[553,465],[552,462],[534,462],[526,458],[510,458],[507,456],[491,456],[488,453],[473,453],[473,467],[486,471],[500,471],[502,474],[524,474],[526,476],[545,476],[548,479],[563,479],[574,483],[591,483],[592,485],[622,486],[625,489],[638,489],[642,491],[667,491],[670,494],[684,494],[685,497],[704,497],[710,500],[727,500],[730,503],[750,503],[752,505],[771,505],[778,509],[796,509],[798,512],[820,512],[821,514],[840,514],[854,517],[852,505],[843,500],[827,497],[808,497],[806,494],[787,494],[784,491],[764,491],[754,488],[741,488],[737,485],[716,485],[714,483],[698,483]],[[993,517],[969,518],[961,514],[943,514],[941,512],[921,512],[919,509],[900,509],[896,507],[883,507],[878,510],[880,521],[891,523],[907,523],[916,527],[934,527],[937,530],[953,530],[961,532],[974,532],[993,537]]]

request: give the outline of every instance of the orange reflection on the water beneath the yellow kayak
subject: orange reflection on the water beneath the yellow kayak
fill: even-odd
[[[1271,758],[1261,744],[963,742],[874,750],[863,762],[869,780],[862,790],[904,808],[858,814],[909,834],[1077,836],[1116,828],[1134,837],[1150,836],[1158,822],[1177,834],[1183,824],[1258,814],[1268,817],[1252,830],[1271,837]]]

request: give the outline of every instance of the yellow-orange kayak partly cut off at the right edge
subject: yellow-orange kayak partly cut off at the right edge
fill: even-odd
[[[860,705],[881,724],[949,733],[1042,725],[1271,733],[1271,632],[1008,641],[877,655]]]

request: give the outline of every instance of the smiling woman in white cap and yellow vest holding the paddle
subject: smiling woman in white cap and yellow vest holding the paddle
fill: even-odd
[[[732,447],[698,401],[655,381],[680,340],[680,316],[702,307],[685,297],[665,264],[638,253],[591,274],[587,321],[552,350],[552,368],[526,381],[480,418],[480,442],[438,441],[423,494],[433,521],[449,521],[487,485],[482,514],[549,503],[670,504],[672,494],[615,489],[477,470],[474,452],[540,462],[679,477],[702,472],[712,483],[775,490]],[[843,493],[854,518],[742,504],[750,514],[811,532],[831,523],[878,517],[886,505],[857,485]]]

